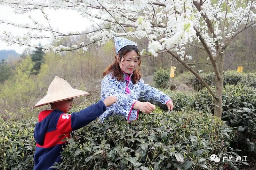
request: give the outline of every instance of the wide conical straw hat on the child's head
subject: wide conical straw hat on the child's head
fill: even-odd
[[[44,106],[53,102],[73,99],[88,94],[90,93],[73,89],[66,80],[55,76],[48,88],[46,96],[38,101],[34,107]]]

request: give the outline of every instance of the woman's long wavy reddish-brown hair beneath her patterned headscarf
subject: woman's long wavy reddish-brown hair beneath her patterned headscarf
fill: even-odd
[[[118,56],[119,56],[119,61],[117,61],[117,58],[115,56],[115,61],[114,63],[110,64],[106,69],[105,71],[103,72],[103,76],[106,76],[107,74],[109,73],[112,73],[112,78],[116,77],[117,81],[124,81],[124,73],[122,72],[120,66],[119,66],[119,63],[121,62],[122,58],[126,56],[127,53],[131,52],[131,51],[135,51],[137,53],[138,56],[140,56],[140,52],[139,52],[139,49],[134,46],[134,45],[128,45],[128,46],[125,46],[123,48],[121,48],[118,52]],[[123,61],[124,62],[124,61]],[[123,64],[122,62],[122,64]],[[141,75],[140,75],[140,57],[138,59],[138,66],[139,66],[139,69],[135,69],[133,71],[133,74],[132,74],[132,83],[135,85],[136,83],[138,83],[138,81],[140,81],[140,78],[141,78]]]

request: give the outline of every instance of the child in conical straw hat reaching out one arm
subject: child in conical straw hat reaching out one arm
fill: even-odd
[[[35,127],[36,153],[34,157],[34,170],[48,169],[55,162],[61,162],[61,152],[67,141],[63,140],[71,136],[71,132],[80,129],[99,117],[106,107],[116,102],[115,96],[109,96],[106,100],[99,100],[79,112],[67,114],[73,106],[73,99],[90,93],[76,90],[69,83],[59,77],[55,77],[44,96],[34,107],[51,104],[52,109],[44,110],[38,115],[38,123]],[[54,168],[50,168],[54,169]]]

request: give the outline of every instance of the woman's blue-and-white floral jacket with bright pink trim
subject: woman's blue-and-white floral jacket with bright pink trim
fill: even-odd
[[[108,96],[116,96],[116,103],[107,107],[107,110],[100,115],[100,122],[104,122],[105,118],[112,115],[124,115],[128,122],[138,119],[139,110],[133,109],[133,105],[139,100],[139,97],[143,100],[155,100],[162,104],[166,104],[171,100],[169,96],[164,92],[151,87],[148,84],[144,84],[144,81],[140,79],[135,85],[132,84],[132,74],[129,76],[124,73],[124,82],[117,81],[112,73],[106,75],[101,82],[101,100],[105,100]]]

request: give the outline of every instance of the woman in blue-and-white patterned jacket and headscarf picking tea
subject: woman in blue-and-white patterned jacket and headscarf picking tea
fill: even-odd
[[[128,122],[138,119],[139,110],[149,114],[155,105],[138,101],[155,100],[166,104],[172,110],[173,104],[169,96],[160,90],[144,84],[140,75],[140,52],[137,44],[124,37],[115,37],[116,57],[114,63],[103,72],[101,82],[101,100],[108,96],[117,97],[117,102],[107,108],[100,116],[100,122],[112,115],[124,115]],[[137,69],[139,67],[139,69]]]

